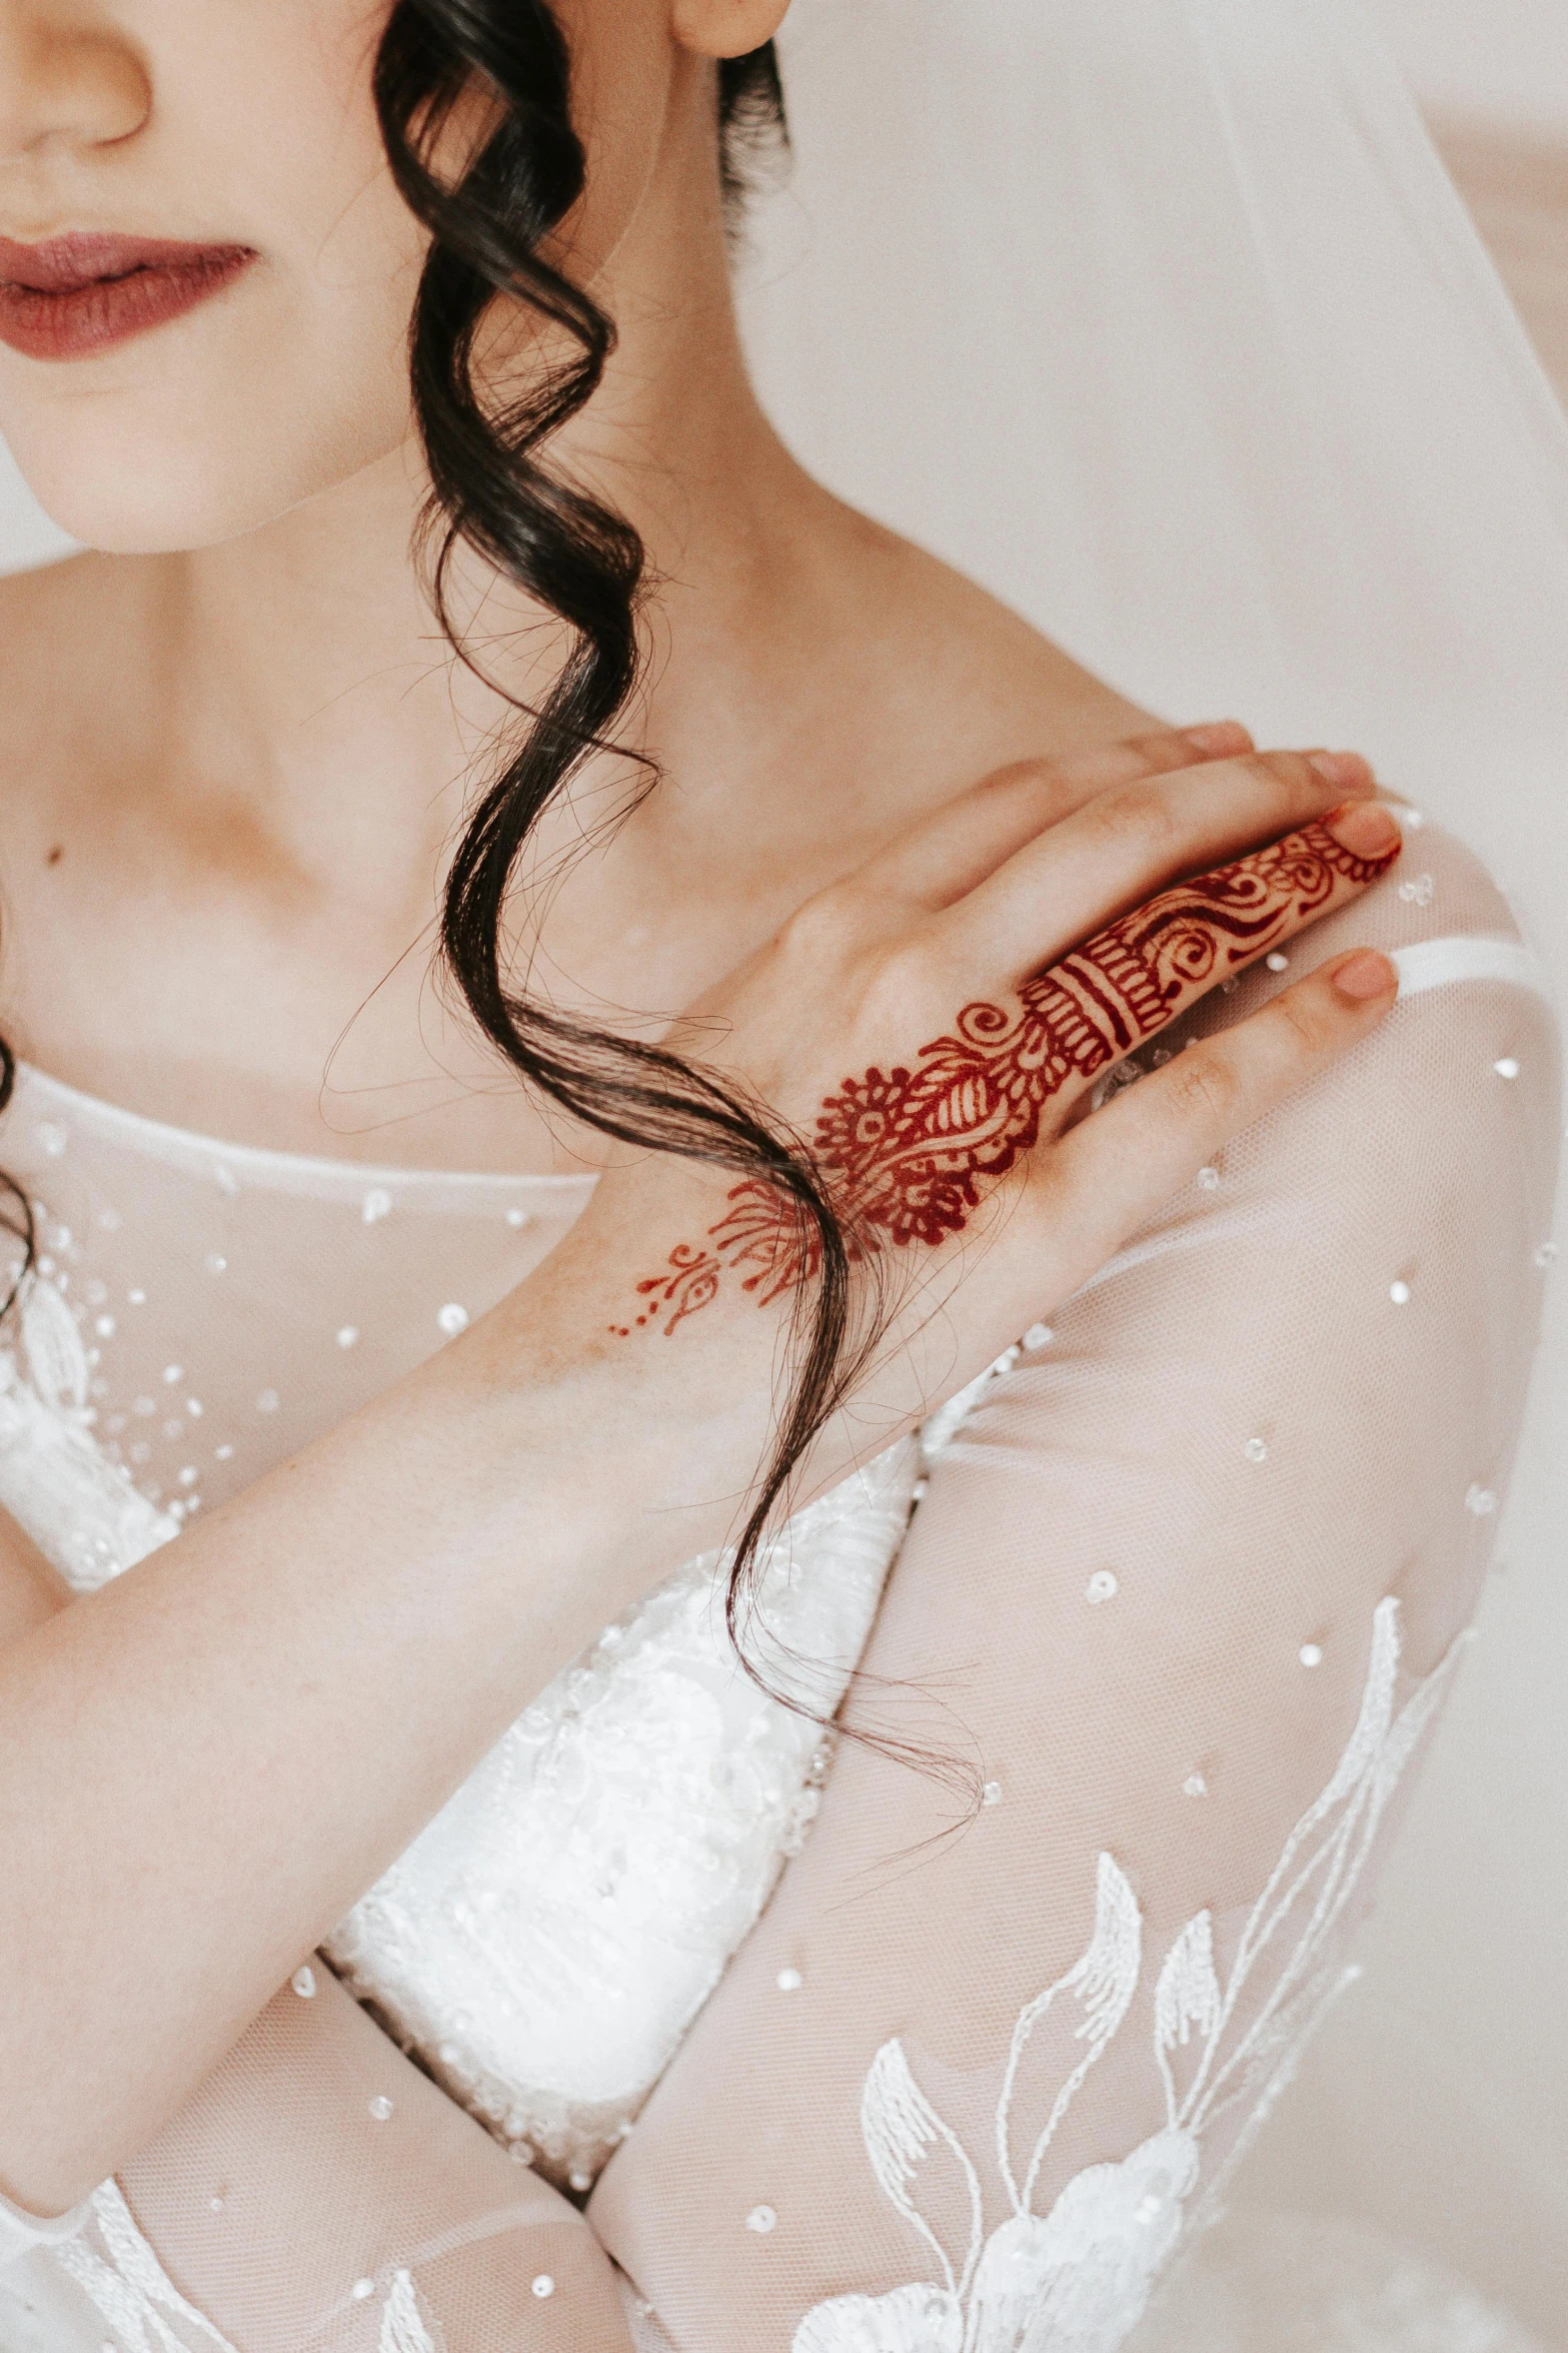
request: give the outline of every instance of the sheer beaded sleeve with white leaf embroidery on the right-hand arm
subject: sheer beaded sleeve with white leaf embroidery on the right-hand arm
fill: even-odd
[[[844,1744],[599,2181],[679,2353],[1112,2353],[1345,1981],[1556,1160],[1552,1016],[1467,854],[1413,831],[1291,960],[1356,939],[1406,951],[1387,1026],[931,1431],[858,1715],[976,1802]]]

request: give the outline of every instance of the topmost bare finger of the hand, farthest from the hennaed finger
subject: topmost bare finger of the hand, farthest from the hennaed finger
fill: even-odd
[[[1072,760],[1013,760],[947,800],[853,875],[882,904],[940,911],[1023,849],[1044,826],[1056,826],[1100,793],[1237,758],[1253,739],[1237,720],[1208,727],[1159,727],[1121,744],[1103,744]]]

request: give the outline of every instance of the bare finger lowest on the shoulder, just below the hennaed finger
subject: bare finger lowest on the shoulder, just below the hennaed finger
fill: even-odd
[[[1225,1144],[1378,1028],[1399,993],[1387,955],[1352,948],[1305,981],[1124,1087],[1030,1167],[1025,1214],[1070,1233],[1086,1282]]]

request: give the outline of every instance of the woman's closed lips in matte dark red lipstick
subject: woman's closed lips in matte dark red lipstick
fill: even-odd
[[[28,360],[85,360],[195,311],[254,259],[249,245],[167,238],[0,238],[0,344]]]

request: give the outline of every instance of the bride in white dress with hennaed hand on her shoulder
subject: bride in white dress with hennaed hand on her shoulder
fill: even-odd
[[[1465,1642],[1540,967],[802,471],[780,16],[0,0],[7,2353],[1112,2353]]]

